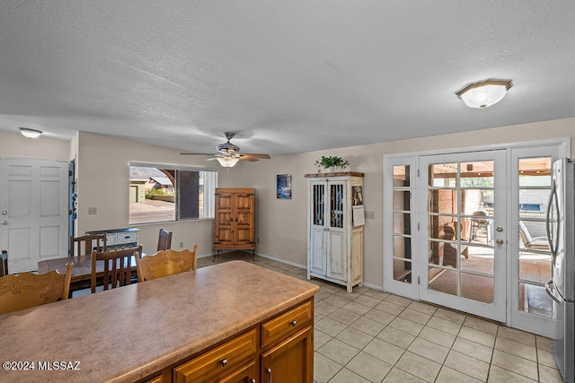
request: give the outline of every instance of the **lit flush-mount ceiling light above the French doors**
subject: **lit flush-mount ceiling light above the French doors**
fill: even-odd
[[[485,109],[498,103],[513,86],[511,80],[487,79],[477,83],[468,83],[456,95],[469,108]]]

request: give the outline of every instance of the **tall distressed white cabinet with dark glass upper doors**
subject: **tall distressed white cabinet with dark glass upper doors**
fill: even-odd
[[[363,283],[363,222],[352,209],[363,205],[364,173],[306,174],[308,178],[307,279],[343,284],[348,292]]]

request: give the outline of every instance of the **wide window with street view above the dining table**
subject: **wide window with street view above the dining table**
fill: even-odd
[[[129,223],[214,218],[217,171],[130,164]]]

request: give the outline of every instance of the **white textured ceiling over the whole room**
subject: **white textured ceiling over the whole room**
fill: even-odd
[[[0,131],[272,155],[575,117],[571,0],[0,2]],[[514,81],[488,109],[455,91]]]

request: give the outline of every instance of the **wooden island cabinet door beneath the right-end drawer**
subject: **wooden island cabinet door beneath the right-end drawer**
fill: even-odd
[[[297,333],[266,353],[261,353],[261,381],[312,383],[314,344],[312,327]]]

